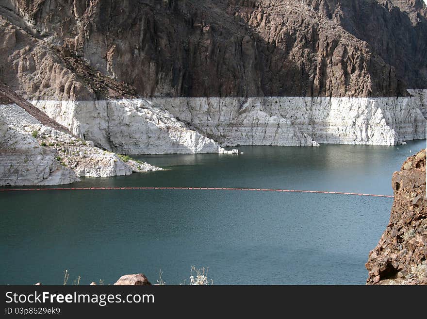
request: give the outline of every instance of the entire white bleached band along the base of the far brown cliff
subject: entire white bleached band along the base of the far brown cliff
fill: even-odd
[[[221,152],[221,146],[236,145],[396,145],[424,139],[420,96],[32,102],[73,134],[106,150],[155,154]]]

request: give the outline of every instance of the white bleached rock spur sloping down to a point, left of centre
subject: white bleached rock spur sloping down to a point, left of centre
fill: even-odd
[[[83,139],[122,154],[218,153],[212,139],[188,129],[144,99],[33,101]]]

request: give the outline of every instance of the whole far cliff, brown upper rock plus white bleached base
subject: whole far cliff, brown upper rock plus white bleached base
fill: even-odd
[[[420,0],[0,0],[0,14],[0,81],[106,150],[426,136]]]

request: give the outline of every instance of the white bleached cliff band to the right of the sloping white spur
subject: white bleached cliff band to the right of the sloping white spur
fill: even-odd
[[[158,98],[152,101],[223,146],[312,145],[312,141],[396,145],[426,138],[426,118],[419,97]]]

